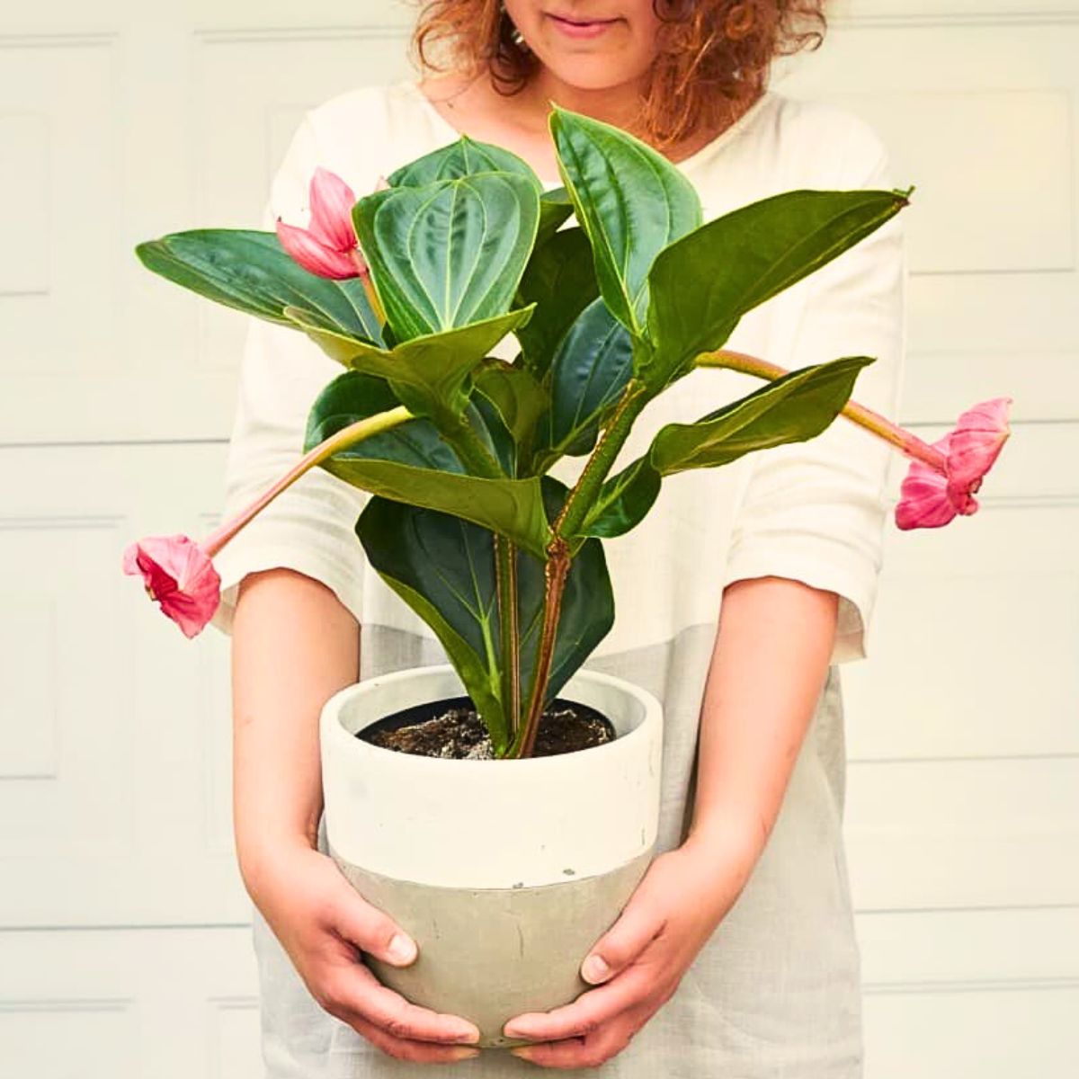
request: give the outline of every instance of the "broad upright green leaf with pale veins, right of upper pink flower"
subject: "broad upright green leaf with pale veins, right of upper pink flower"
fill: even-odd
[[[516,173],[477,173],[366,195],[356,235],[400,342],[504,314],[535,243],[540,195]]]

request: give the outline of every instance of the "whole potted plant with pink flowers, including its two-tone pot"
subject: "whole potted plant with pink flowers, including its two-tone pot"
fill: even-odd
[[[614,619],[603,541],[645,517],[666,476],[812,438],[841,412],[913,459],[900,527],[943,524],[974,511],[1008,435],[1007,398],[933,446],[849,401],[872,357],[784,371],[723,350],[743,314],[879,228],[913,188],[790,191],[706,223],[692,185],[644,142],[558,108],[550,131],[555,191],[462,136],[359,200],[316,170],[308,229],[136,248],[344,368],[270,491],[202,543],[132,544],[125,571],[191,637],[217,605],[213,556],[308,468],[371,493],[363,551],[449,665],[325,704],[330,851],[420,944],[412,967],[372,962],[379,976],[473,1020],[486,1046],[507,1042],[508,1017],[586,987],[579,961],[655,843],[660,706],[582,670]],[[489,356],[509,333],[516,359]],[[765,381],[663,427],[613,473],[644,407],[696,366]],[[568,455],[586,459],[572,488],[550,475]]]

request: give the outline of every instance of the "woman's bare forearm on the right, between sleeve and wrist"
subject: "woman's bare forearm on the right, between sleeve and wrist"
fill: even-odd
[[[837,611],[835,592],[786,577],[724,590],[688,845],[734,845],[756,861],[824,685]]]

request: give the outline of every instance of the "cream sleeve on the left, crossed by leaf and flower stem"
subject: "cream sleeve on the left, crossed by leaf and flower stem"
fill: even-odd
[[[318,159],[310,117],[298,126],[271,187],[261,228],[310,218]],[[222,521],[272,487],[303,455],[308,413],[342,368],[303,333],[248,316],[224,475]],[[315,467],[249,521],[215,557],[221,602],[211,619],[232,632],[245,574],[283,566],[322,582],[360,622],[364,552],[355,533],[367,493]]]

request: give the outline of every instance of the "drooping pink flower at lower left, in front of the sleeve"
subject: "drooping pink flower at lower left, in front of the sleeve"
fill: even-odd
[[[189,638],[202,632],[221,601],[221,578],[209,555],[185,535],[128,544],[124,573],[141,573],[147,595]]]

